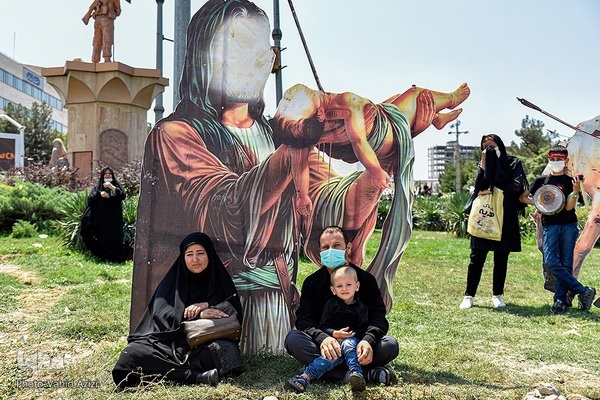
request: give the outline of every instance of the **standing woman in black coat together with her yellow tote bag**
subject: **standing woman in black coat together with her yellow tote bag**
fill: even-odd
[[[481,150],[481,162],[475,180],[475,196],[473,196],[476,198],[473,200],[473,206],[468,209],[471,256],[467,272],[467,288],[460,309],[473,306],[483,265],[490,251],[494,252],[492,305],[494,308],[505,307],[502,295],[508,255],[511,252],[521,251],[519,212],[525,210],[526,204],[521,201],[521,195],[525,193],[528,186],[523,165],[517,157],[506,153],[504,142],[498,135],[484,135],[481,138]],[[500,198],[502,198],[502,206],[494,207],[494,200]],[[491,217],[497,216],[502,218],[492,222]],[[489,236],[497,230],[501,231],[499,238]]]

